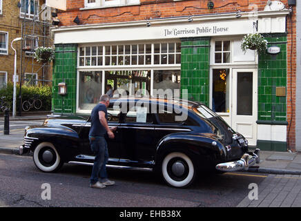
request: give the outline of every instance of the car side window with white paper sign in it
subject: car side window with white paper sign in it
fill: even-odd
[[[144,107],[133,107],[130,108],[128,113],[126,113],[126,123],[141,123],[141,124],[152,124],[153,117],[151,113],[148,112],[148,108]]]

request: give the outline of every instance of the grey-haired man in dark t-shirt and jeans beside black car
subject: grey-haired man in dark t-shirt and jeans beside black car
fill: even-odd
[[[104,135],[108,133],[110,139],[114,139],[113,130],[108,127],[108,113],[106,108],[110,104],[108,95],[101,95],[99,104],[93,108],[91,112],[91,128],[89,133],[90,146],[95,153],[95,161],[90,177],[90,187],[104,188],[109,185],[114,185],[114,181],[108,180],[106,173],[106,163],[108,162],[108,146]],[[100,182],[99,182],[100,176]]]

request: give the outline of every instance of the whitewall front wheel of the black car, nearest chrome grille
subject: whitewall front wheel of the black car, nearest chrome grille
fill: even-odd
[[[50,142],[42,142],[35,148],[33,161],[43,172],[55,172],[63,166],[57,149]]]

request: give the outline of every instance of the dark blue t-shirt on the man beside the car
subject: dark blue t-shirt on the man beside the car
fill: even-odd
[[[106,128],[104,128],[104,126],[102,126],[101,122],[99,121],[99,111],[104,111],[104,113],[106,114],[106,119],[108,119],[106,105],[101,103],[97,104],[91,112],[91,128],[89,136],[103,137],[106,134]]]

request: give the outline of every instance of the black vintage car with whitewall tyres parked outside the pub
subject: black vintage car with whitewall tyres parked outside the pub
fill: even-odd
[[[259,162],[259,149],[208,107],[182,99],[111,99],[108,124],[117,127],[108,140],[107,166],[159,172],[175,187],[188,186],[202,171],[239,171]],[[43,126],[26,127],[20,154],[33,152],[44,172],[65,162],[93,165],[89,116],[50,116]]]

